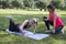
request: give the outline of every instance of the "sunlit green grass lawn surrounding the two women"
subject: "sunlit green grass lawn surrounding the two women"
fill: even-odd
[[[65,32],[66,32],[66,11],[58,11],[62,20],[65,23]],[[24,11],[24,10],[2,10],[0,9],[0,29],[7,29],[9,26],[9,19],[7,15],[13,15],[13,20],[15,23],[21,24],[26,19],[37,18],[38,19],[38,28],[36,29],[37,33],[44,33],[46,30],[45,24],[42,20],[42,16],[47,16],[47,12],[41,11]],[[30,31],[33,31],[31,28]],[[51,35],[51,34],[50,34]],[[66,33],[51,35],[50,37],[43,38],[41,41],[35,41],[29,37],[24,37],[21,35],[14,35],[7,33],[6,31],[0,31],[0,44],[66,44]]]

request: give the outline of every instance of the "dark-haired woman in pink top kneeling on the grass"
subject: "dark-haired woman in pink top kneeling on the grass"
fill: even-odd
[[[64,22],[62,21],[61,16],[57,15],[55,7],[53,4],[50,4],[47,6],[47,10],[50,12],[50,16],[43,16],[43,21],[45,22],[45,25],[47,28],[47,31],[45,32],[52,32],[53,34],[62,32],[64,28]],[[53,31],[50,31],[50,24],[53,25]]]

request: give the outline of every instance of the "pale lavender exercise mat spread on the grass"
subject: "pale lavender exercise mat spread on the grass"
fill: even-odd
[[[9,29],[6,30],[8,33],[13,33],[13,34],[18,34],[18,35],[22,35],[20,32],[11,32],[9,31]],[[33,32],[26,31],[24,30],[24,36],[33,38],[33,40],[43,40],[45,37],[48,37],[48,34],[42,34],[42,33],[35,33],[33,34]]]

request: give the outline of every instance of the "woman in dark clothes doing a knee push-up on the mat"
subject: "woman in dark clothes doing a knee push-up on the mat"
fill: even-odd
[[[9,19],[10,19],[10,25],[9,25],[10,31],[21,32],[24,35],[23,30],[26,30],[26,29],[33,26],[34,28],[33,33],[35,33],[35,29],[37,25],[37,20],[35,18],[33,18],[32,20],[24,20],[24,22],[20,25],[15,24],[11,18],[9,18]]]

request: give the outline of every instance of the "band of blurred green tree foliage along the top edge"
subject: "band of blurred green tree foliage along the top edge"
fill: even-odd
[[[6,8],[38,8],[40,10],[45,9],[47,4],[53,3],[57,9],[65,10],[65,0],[0,0],[0,7]]]

